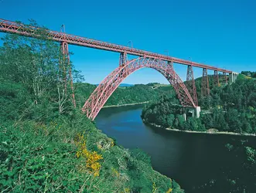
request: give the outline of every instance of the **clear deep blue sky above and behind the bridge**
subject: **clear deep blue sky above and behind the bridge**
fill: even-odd
[[[35,19],[49,29],[133,46],[230,69],[256,71],[254,0],[35,1],[0,0],[0,18]],[[1,34],[2,36],[2,34]],[[118,53],[70,46],[76,69],[88,83],[100,83],[118,67]],[[186,66],[175,64],[186,79]],[[201,76],[202,69],[194,69]],[[209,72],[213,74],[213,72]],[[140,69],[124,83],[168,83],[154,69]]]

